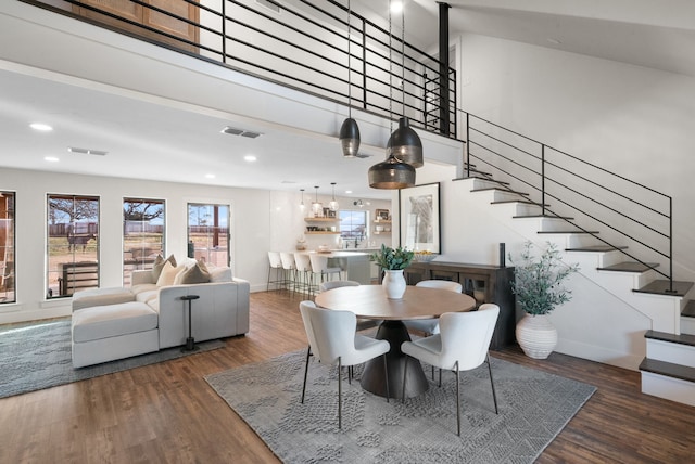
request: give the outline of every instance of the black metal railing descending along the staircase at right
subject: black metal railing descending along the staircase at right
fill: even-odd
[[[654,270],[668,280],[666,292],[674,292],[670,196],[490,120],[463,114],[467,177],[486,172],[509,182],[502,189],[529,189],[523,198],[535,204],[541,216],[563,219],[606,249]],[[661,270],[661,265],[668,270]]]

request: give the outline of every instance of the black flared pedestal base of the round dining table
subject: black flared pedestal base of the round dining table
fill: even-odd
[[[422,395],[429,388],[429,383],[420,362],[401,351],[403,341],[410,341],[410,335],[402,321],[384,321],[377,332],[376,338],[388,340],[391,350],[387,353],[387,375],[389,378],[389,398],[403,397],[403,369],[408,362],[405,398]],[[383,358],[378,357],[365,363],[362,374],[362,388],[380,397],[387,396],[386,378],[383,376]]]

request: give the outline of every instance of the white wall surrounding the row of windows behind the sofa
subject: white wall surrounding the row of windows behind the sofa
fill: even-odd
[[[66,314],[70,298],[45,299],[46,195],[71,193],[100,197],[101,286],[122,285],[123,198],[166,201],[166,253],[186,256],[186,205],[211,202],[231,205],[231,254],[236,276],[265,288],[270,246],[271,192],[195,184],[87,177],[1,169],[2,190],[16,192],[17,304],[0,306],[0,323]]]

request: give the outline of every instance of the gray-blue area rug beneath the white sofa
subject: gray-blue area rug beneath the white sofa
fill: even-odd
[[[26,394],[99,375],[125,371],[225,346],[222,340],[198,344],[200,350],[180,348],[74,369],[71,321],[30,324],[0,331],[0,398]]]

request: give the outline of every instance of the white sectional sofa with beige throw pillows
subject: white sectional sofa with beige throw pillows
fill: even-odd
[[[188,301],[195,341],[249,332],[249,282],[229,268],[208,283],[160,285],[152,271],[135,271],[127,288],[93,288],[73,296],[73,366],[181,346],[188,337]],[[160,281],[161,283],[161,281]]]

